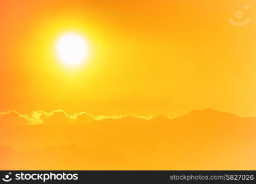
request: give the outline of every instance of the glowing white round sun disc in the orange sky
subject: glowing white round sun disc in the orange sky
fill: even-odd
[[[63,34],[57,41],[57,55],[68,66],[81,64],[88,55],[88,46],[79,34]]]

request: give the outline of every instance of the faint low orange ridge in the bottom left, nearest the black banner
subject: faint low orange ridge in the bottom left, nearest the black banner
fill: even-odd
[[[44,147],[17,152],[0,147],[1,169],[114,169],[127,165],[126,156],[105,147]],[[7,159],[6,159],[7,158]]]

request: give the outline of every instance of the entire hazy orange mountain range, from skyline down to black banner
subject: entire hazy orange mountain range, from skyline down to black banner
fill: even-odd
[[[0,169],[256,169],[256,118],[212,109],[149,120],[59,117],[2,128]]]

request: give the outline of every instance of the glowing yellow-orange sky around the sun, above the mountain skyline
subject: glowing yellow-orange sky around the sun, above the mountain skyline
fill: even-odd
[[[242,6],[248,25],[228,22]],[[256,116],[256,2],[1,1],[0,111],[172,117],[213,108]],[[234,18],[235,20],[235,18]],[[90,45],[63,67],[60,35]]]

